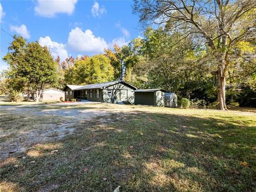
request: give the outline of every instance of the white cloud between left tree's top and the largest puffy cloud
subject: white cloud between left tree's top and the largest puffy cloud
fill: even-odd
[[[40,37],[38,43],[41,46],[47,46],[51,51],[52,57],[57,59],[60,56],[60,60],[63,61],[68,57],[68,52],[65,49],[65,44],[53,42],[49,36]]]

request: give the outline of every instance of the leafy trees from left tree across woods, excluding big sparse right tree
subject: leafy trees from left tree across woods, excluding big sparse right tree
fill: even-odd
[[[27,43],[14,36],[10,52],[4,57],[10,70],[1,81],[1,94],[19,91],[39,98],[43,89],[63,89],[66,84],[86,85],[124,79],[138,88],[161,87],[175,92],[179,100],[187,98],[203,105],[217,105],[216,60],[205,45],[195,39],[170,34],[163,28],[147,28],[143,38],[133,39],[129,45],[114,46],[105,53],[89,57],[56,60],[47,47],[37,42]],[[227,76],[227,103],[230,106],[255,107],[256,68],[255,42],[242,42],[236,51],[242,57],[230,61]],[[244,55],[244,56],[243,56]],[[37,93],[37,95],[36,95]]]

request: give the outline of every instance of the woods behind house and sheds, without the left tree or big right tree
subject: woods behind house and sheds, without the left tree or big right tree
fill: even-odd
[[[147,28],[143,38],[129,45],[93,57],[69,58],[60,63],[62,84],[90,84],[123,78],[138,88],[162,87],[202,105],[217,106],[218,79],[215,55],[206,45],[182,38],[163,28]],[[227,103],[232,106],[251,106],[256,103],[255,42],[241,42],[235,47],[241,57],[230,60],[227,75]],[[70,62],[71,61],[71,62]],[[200,102],[199,102],[200,101]]]

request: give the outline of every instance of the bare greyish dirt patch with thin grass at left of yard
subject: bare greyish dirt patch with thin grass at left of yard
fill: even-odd
[[[111,121],[109,111],[87,109],[53,109],[47,106],[1,107],[0,158],[22,153],[36,143],[61,140],[73,134],[77,125],[92,121]],[[86,128],[86,127],[85,127]]]

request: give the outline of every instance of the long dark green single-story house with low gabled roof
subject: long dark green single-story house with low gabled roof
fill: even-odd
[[[65,100],[74,98],[108,103],[134,103],[134,90],[137,88],[123,80],[90,85],[66,85],[63,89]]]

